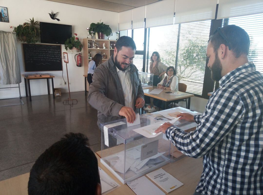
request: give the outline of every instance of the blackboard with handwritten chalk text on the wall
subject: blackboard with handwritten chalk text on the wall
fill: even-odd
[[[62,71],[61,45],[23,43],[25,70]]]

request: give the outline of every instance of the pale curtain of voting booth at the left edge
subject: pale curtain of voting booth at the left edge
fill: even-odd
[[[0,31],[0,84],[21,83],[16,33]]]

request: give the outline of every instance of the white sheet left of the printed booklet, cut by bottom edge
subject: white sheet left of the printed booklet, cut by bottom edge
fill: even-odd
[[[139,177],[131,182],[127,182],[127,185],[136,195],[165,195],[163,191],[161,191],[145,176]]]

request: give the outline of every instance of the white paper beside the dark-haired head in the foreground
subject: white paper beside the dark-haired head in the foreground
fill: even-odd
[[[108,192],[111,189],[120,186],[117,182],[115,182],[105,171],[103,171],[99,167],[99,175],[100,175],[100,184],[102,188],[102,193]]]

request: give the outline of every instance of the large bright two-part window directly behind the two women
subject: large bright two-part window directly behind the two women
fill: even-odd
[[[158,51],[163,63],[175,66],[179,82],[187,85],[186,92],[201,96],[210,26],[211,20],[150,28],[148,72],[151,54]]]

